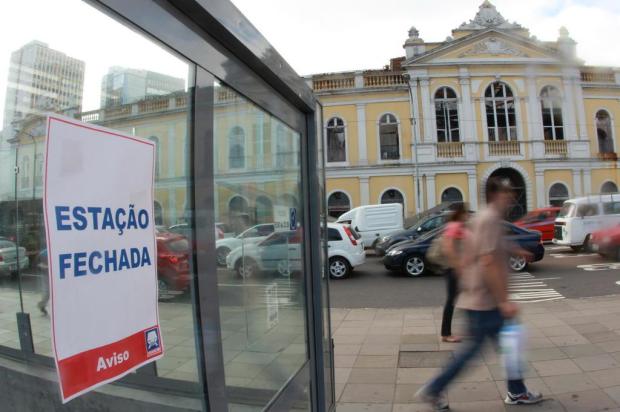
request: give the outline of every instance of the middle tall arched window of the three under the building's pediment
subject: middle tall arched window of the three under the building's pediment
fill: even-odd
[[[515,99],[505,83],[495,82],[484,93],[489,141],[517,140]]]

